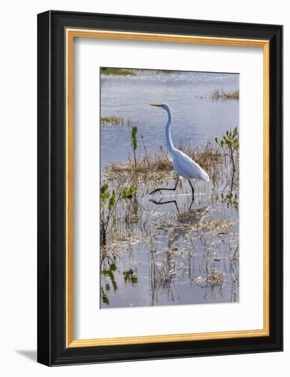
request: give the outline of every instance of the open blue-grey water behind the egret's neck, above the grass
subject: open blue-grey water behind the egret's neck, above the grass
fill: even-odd
[[[144,136],[148,152],[165,148],[167,114],[149,104],[168,104],[172,110],[172,141],[194,147],[233,130],[239,125],[239,101],[200,99],[213,90],[239,88],[239,75],[220,73],[157,73],[143,71],[137,76],[101,76],[101,117],[124,117],[124,126],[101,127],[101,167],[127,158],[131,143],[128,119]],[[114,148],[112,148],[114,146]],[[143,155],[140,149],[138,154]]]

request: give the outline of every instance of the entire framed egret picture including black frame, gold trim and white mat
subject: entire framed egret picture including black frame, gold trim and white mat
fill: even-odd
[[[282,34],[38,14],[39,363],[282,350]]]

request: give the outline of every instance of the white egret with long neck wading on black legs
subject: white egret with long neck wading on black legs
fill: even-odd
[[[169,158],[173,164],[174,169],[178,173],[178,178],[174,189],[160,188],[152,191],[149,195],[155,194],[157,193],[157,191],[161,193],[161,190],[175,191],[177,184],[179,183],[179,178],[185,178],[188,180],[192,188],[192,200],[194,200],[194,187],[192,186],[192,182],[190,182],[190,179],[195,178],[197,180],[209,182],[209,175],[196,162],[194,162],[192,158],[184,154],[182,151],[179,151],[179,149],[174,148],[170,135],[170,125],[172,121],[170,107],[166,104],[151,104],[151,106],[157,106],[158,108],[162,108],[163,110],[166,110],[166,112],[168,113],[168,122],[166,125],[166,146],[168,149]]]

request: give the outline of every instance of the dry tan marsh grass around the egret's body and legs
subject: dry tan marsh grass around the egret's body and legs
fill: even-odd
[[[191,145],[183,147],[180,143],[179,149],[196,160],[209,173],[212,190],[215,190],[215,186],[223,185],[224,189],[230,187],[230,193],[212,195],[212,205],[215,206],[216,202],[220,202],[228,208],[233,207],[237,210],[239,178],[236,173],[235,186],[233,186],[233,182],[230,180],[229,157],[223,153],[222,149],[212,143],[194,148]],[[119,161],[118,164],[111,163],[105,167],[102,177],[109,182],[109,186],[122,187],[133,184],[136,188],[136,195],[133,199],[118,202],[118,206],[116,206],[114,216],[110,219],[108,247],[111,245],[116,250],[120,247],[120,243],[140,243],[144,239],[150,239],[156,230],[161,229],[175,228],[183,232],[202,231],[226,234],[230,227],[237,225],[235,219],[205,219],[208,212],[207,206],[192,210],[181,208],[181,211],[177,208],[178,213],[171,217],[171,221],[168,221],[169,219],[162,221],[156,218],[152,208],[148,208],[147,200],[149,198],[144,203],[144,197],[157,184],[175,180],[174,175],[172,162],[162,149],[155,154],[146,154],[146,156],[136,159],[128,158],[126,161]],[[182,187],[184,185],[186,186],[186,182],[179,183],[181,192],[184,192]],[[207,197],[205,185],[198,184],[195,190],[197,195]],[[162,204],[162,198],[158,204]],[[189,202],[185,202],[185,206],[189,206],[189,204]]]

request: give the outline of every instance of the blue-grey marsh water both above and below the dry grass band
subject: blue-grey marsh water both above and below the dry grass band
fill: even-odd
[[[215,88],[237,90],[238,75],[149,71],[103,76],[101,84],[101,116],[131,119],[138,127],[137,157],[144,154],[140,134],[148,154],[165,147],[167,114],[150,103],[170,105],[176,145],[201,145],[238,125],[239,101],[196,97]],[[127,125],[101,127],[102,168],[131,156],[130,131]],[[172,171],[161,186],[172,187],[174,180]],[[118,184],[109,182],[111,188]],[[192,203],[183,181],[176,192],[157,193],[156,203],[150,202],[148,192],[157,187],[146,182],[135,199],[116,208],[118,241],[101,253],[101,308],[239,301],[238,192],[224,180],[194,182]]]

